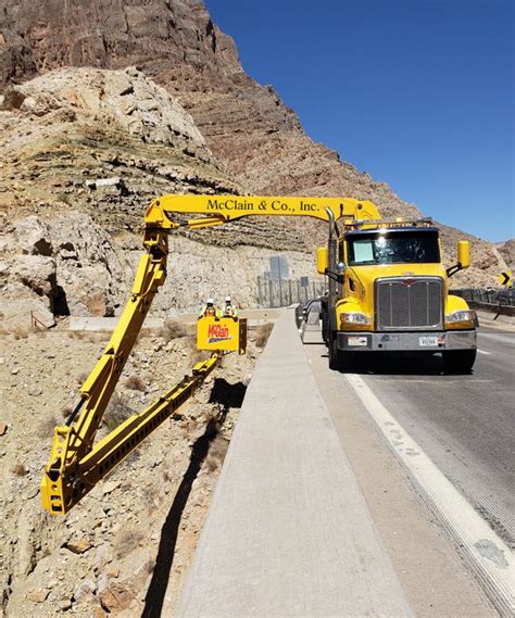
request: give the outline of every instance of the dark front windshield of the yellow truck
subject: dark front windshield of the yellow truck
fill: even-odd
[[[350,266],[440,262],[437,230],[374,231],[349,235],[347,247]]]

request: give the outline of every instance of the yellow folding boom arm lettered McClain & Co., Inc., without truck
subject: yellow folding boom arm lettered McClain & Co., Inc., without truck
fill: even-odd
[[[41,481],[42,505],[49,513],[67,513],[165,418],[177,412],[219,357],[215,353],[209,361],[196,365],[191,378],[185,378],[156,403],[128,418],[93,445],[103,413],[145,317],[166,278],[167,234],[180,226],[210,227],[249,215],[310,216],[329,220],[327,210],[336,219],[348,217],[349,223],[379,216],[372,202],[347,198],[163,196],[151,203],[145,217],[147,253],[140,260],[130,298],[104,353],[80,388],[80,404],[66,425],[54,429],[50,463]],[[174,213],[202,213],[206,217],[174,222]],[[240,326],[243,326],[242,320]],[[246,346],[244,337],[240,332],[240,351]]]

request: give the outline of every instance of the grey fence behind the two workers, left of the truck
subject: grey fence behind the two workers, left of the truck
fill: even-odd
[[[322,279],[272,279],[258,276],[258,302],[261,308],[285,307],[321,297],[326,283]]]

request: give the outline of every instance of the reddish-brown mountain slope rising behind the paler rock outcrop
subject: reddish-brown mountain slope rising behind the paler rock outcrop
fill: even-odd
[[[314,143],[274,89],[246,75],[233,40],[213,24],[200,0],[71,0],[64,8],[52,0],[4,0],[0,29],[0,87],[63,65],[137,65],[191,114],[215,161],[230,175],[233,188],[344,194],[374,200],[385,216],[418,214],[388,185]],[[122,172],[123,167],[117,169],[120,176]],[[154,194],[160,189],[155,186]],[[172,184],[168,190],[177,187]],[[271,242],[280,244],[271,239],[282,238],[286,248],[305,252],[312,252],[314,240],[324,237],[316,224],[280,219],[268,225],[249,222],[242,231],[238,241],[271,247]],[[210,232],[210,240],[224,242],[225,238],[230,245],[233,232],[225,234]],[[452,228],[443,230],[448,264],[454,262],[459,236]],[[474,239],[473,264],[455,277],[455,287],[492,285],[505,266],[492,245],[479,239]]]

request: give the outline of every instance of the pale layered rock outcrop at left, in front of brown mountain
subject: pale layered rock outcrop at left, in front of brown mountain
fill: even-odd
[[[120,312],[141,254],[142,213],[154,196],[242,191],[191,116],[135,68],[62,68],[10,87],[0,129],[7,328],[27,324],[30,311],[46,324],[54,315]],[[208,238],[185,231],[172,241],[154,311],[194,311],[202,299],[229,292],[254,305],[255,276],[278,249],[296,247],[288,238],[281,242],[263,223]],[[310,255],[289,255],[293,274],[312,272]]]

